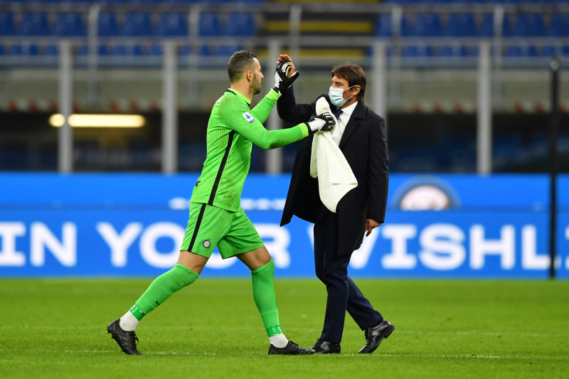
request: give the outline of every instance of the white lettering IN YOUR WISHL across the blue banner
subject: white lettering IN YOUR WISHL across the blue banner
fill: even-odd
[[[289,230],[271,223],[256,223],[255,228],[265,241],[275,266],[290,267]],[[181,225],[171,222],[152,223],[146,228],[142,223],[133,222],[120,230],[111,223],[99,222],[95,224],[95,230],[96,233],[90,234],[88,240],[78,241],[78,227],[72,222],[63,223],[58,233],[53,233],[41,222],[31,223],[29,230],[24,223],[2,222],[0,267],[23,267],[28,262],[33,267],[41,267],[46,264],[48,253],[61,266],[74,267],[78,263],[79,246],[101,245],[100,242],[104,242],[102,257],[110,257],[112,267],[126,267],[129,254],[137,253],[151,267],[173,267],[178,260],[185,233]],[[379,232],[364,237],[360,249],[351,258],[353,269],[365,268],[374,250],[376,254],[381,254],[381,267],[386,270],[412,270],[422,266],[435,271],[450,271],[468,265],[469,269],[476,271],[487,267],[489,259],[493,262],[497,260],[504,271],[514,269],[516,264],[526,270],[543,270],[550,264],[549,255],[537,251],[535,225],[523,225],[517,237],[513,225],[502,225],[496,238],[486,237],[483,225],[459,228],[450,223],[435,223],[421,230],[413,224],[388,224],[381,226]],[[569,226],[564,234],[569,240]],[[307,235],[312,240],[312,225],[307,228]],[[18,241],[26,237],[29,238],[29,260],[25,252],[18,250]],[[516,247],[516,238],[521,240],[519,247]],[[159,240],[163,239],[172,242],[169,244],[172,247],[170,251],[158,248]],[[382,241],[378,242],[378,239]],[[410,245],[418,246],[418,249],[410,251]],[[222,260],[219,253],[214,251],[208,267],[223,269],[235,262],[235,258]],[[560,267],[560,257],[555,260],[555,265]],[[569,269],[569,257],[566,257],[565,268]]]

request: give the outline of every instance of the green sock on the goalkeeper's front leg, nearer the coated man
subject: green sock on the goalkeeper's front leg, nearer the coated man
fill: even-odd
[[[279,323],[279,310],[273,280],[275,277],[275,263],[270,260],[267,265],[251,271],[253,299],[261,314],[269,337],[282,333]]]

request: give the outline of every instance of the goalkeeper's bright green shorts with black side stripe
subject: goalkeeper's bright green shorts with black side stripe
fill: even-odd
[[[190,218],[181,251],[211,257],[214,247],[223,259],[262,247],[264,244],[243,208],[237,212],[203,203],[190,203]]]

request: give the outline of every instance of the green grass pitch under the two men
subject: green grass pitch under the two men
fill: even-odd
[[[267,356],[248,279],[201,278],[146,316],[144,356],[106,334],[151,279],[1,279],[0,378],[568,378],[569,282],[357,280],[396,329],[356,354]],[[282,329],[312,346],[324,285],[276,279]]]

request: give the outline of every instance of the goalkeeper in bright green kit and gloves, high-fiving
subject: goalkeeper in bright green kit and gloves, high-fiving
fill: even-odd
[[[249,51],[237,51],[229,59],[231,85],[211,111],[206,161],[193,187],[179,260],[174,268],[154,279],[124,316],[107,326],[107,333],[111,333],[124,353],[141,354],[134,333],[139,321],[171,294],[195,282],[216,246],[223,259],[238,257],[251,270],[253,299],[269,336],[269,354],[314,353],[312,349],[289,341],[282,333],[273,289],[275,264],[240,207],[252,144],[262,149],[275,149],[309,134],[329,132],[334,127],[334,118],[330,114],[312,117],[289,129],[269,131],[263,127],[262,123],[282,91],[299,75],[287,76],[290,65],[290,61],[280,61],[275,72],[275,87],[250,109],[253,96],[261,90],[263,75],[259,60]]]

